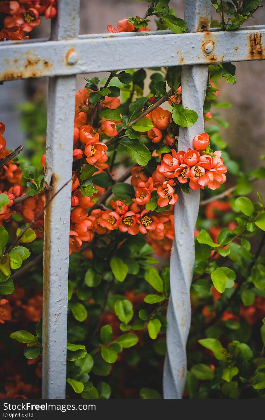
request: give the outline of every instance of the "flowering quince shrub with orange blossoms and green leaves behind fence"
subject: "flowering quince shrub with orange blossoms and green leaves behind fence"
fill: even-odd
[[[5,3],[15,8],[18,2]],[[48,17],[55,13],[54,2],[31,2],[31,8],[28,3],[17,14],[5,11],[22,28],[26,11],[37,16],[31,8],[46,13],[50,7]],[[153,15],[158,29],[187,29],[167,0],[149,2],[144,18],[123,19],[117,29],[107,29],[148,31]],[[229,104],[218,102],[216,83],[219,76],[235,83],[234,72],[231,63],[209,66],[206,132],[191,139],[188,150],[178,148],[179,127],[192,126],[198,115],[181,103],[180,67],[155,68],[149,84],[144,69],[112,71],[101,82],[85,79],[76,93],[67,396],[161,398],[173,211],[177,217],[178,194],[199,189],[184,397],[264,397],[265,205],[260,193],[255,203],[245,196],[253,181],[265,177],[265,169],[244,173],[219,132],[226,122],[218,108]],[[0,123],[1,370],[6,378],[1,398],[38,397],[41,388],[40,262],[44,208],[50,204],[44,205],[45,127],[40,103],[22,111],[23,125],[31,130],[26,146],[35,150],[31,157],[10,153]],[[20,350],[27,375],[24,359],[20,365],[13,361]]]

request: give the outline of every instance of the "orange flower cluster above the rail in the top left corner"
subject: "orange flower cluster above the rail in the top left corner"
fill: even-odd
[[[34,26],[39,26],[41,15],[46,19],[54,18],[57,10],[55,0],[19,0],[2,1],[0,13],[6,15],[0,29],[0,41],[3,41],[28,39],[24,32],[31,32]]]

